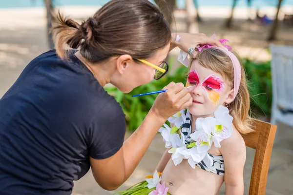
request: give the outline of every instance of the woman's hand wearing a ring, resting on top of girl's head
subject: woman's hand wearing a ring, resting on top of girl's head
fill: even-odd
[[[177,35],[180,37],[180,39],[176,41]],[[227,49],[224,47],[224,45],[218,40],[213,39],[205,34],[191,34],[191,33],[172,33],[172,39],[171,39],[171,46],[170,51],[174,49],[175,47],[179,47],[182,51],[187,52],[188,48],[195,48],[197,45],[203,45],[203,44],[210,44],[215,45],[218,47],[222,47],[223,49]],[[193,53],[192,57],[194,58],[196,56],[196,52]]]

